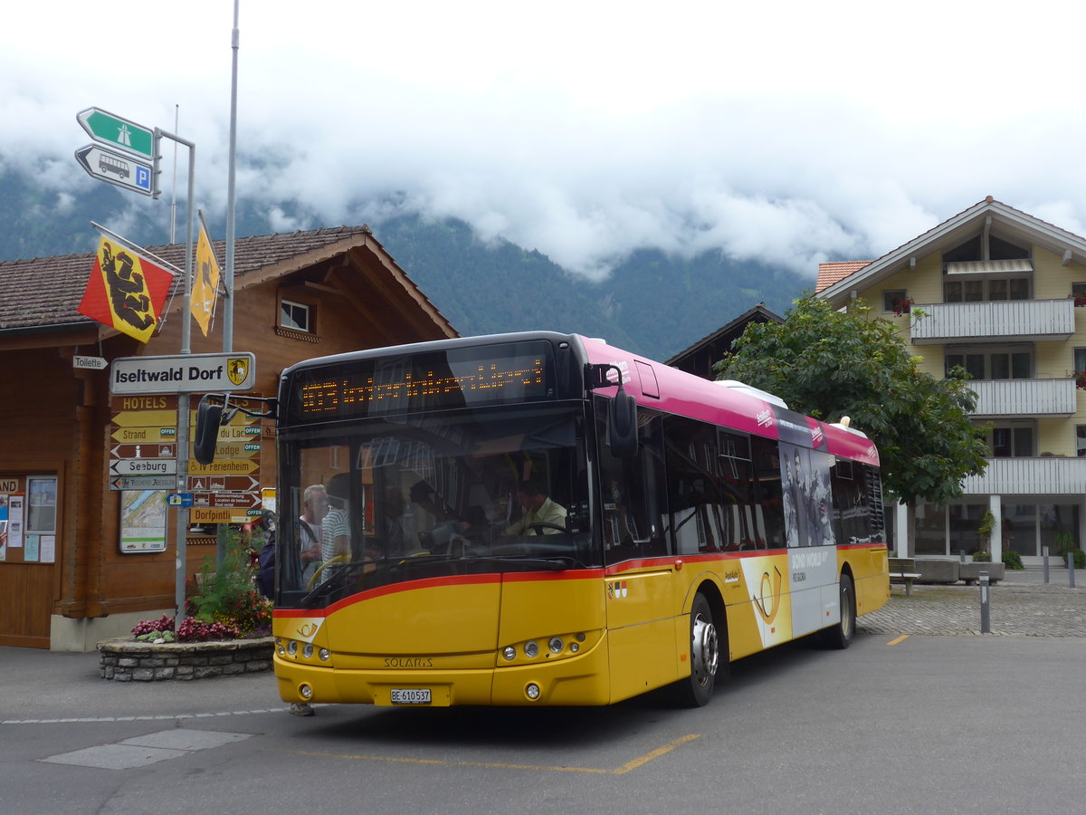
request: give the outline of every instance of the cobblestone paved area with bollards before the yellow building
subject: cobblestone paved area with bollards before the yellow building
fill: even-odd
[[[1044,582],[1040,568],[1006,573],[989,589],[990,634],[1024,637],[1086,637],[1086,572],[1075,573],[1069,588],[1068,570],[1049,569]],[[981,634],[978,586],[913,586],[906,597],[899,584],[891,585],[885,606],[857,620],[869,634]]]

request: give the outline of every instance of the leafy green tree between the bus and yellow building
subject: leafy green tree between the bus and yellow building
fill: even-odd
[[[879,447],[889,498],[910,507],[918,499],[945,504],[961,497],[965,476],[986,466],[984,429],[970,421],[976,394],[963,379],[921,371],[894,324],[870,312],[862,300],[836,311],[808,292],[784,323],[749,325],[717,363],[719,378],[776,393],[825,422],[849,416]]]

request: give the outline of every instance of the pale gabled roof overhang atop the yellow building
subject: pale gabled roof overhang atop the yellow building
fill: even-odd
[[[821,297],[834,306],[846,305],[853,292],[876,286],[915,265],[921,258],[954,249],[984,230],[1009,243],[1041,247],[1060,255],[1064,264],[1086,264],[1086,239],[989,197],[828,286]],[[1033,268],[1032,265],[1030,268]],[[972,274],[993,273],[993,269],[987,269]]]

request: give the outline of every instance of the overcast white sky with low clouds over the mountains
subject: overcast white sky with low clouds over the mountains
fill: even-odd
[[[62,205],[96,184],[73,153],[75,114],[98,106],[193,141],[199,205],[225,212],[233,0],[10,5],[4,166]],[[454,215],[591,275],[657,247],[813,276],[988,195],[1082,235],[1084,17],[1049,0],[241,0],[238,196],[277,231]]]

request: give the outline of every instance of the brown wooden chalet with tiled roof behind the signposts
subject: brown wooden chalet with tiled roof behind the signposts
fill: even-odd
[[[215,249],[222,260],[223,242]],[[149,251],[184,268],[182,244]],[[125,493],[110,482],[117,416],[168,408],[168,398],[121,404],[109,367],[81,365],[177,354],[188,318],[184,284],[174,279],[165,321],[143,344],[77,312],[93,260],[88,252],[0,262],[8,377],[0,390],[0,645],[93,650],[140,617],[174,609],[173,514],[159,551],[125,549]],[[457,336],[367,226],[240,238],[235,292],[229,350],[255,354],[256,396],[274,396],[279,372],[304,359]],[[207,337],[192,324],[192,353],[224,351],[223,305]],[[274,428],[266,424],[262,435],[257,480],[274,487]],[[186,541],[190,575],[216,551],[213,536],[194,530]]]

